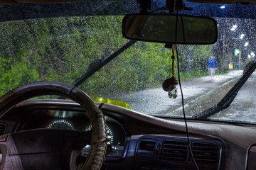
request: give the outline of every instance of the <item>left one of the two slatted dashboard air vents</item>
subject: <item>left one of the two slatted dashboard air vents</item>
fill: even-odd
[[[170,162],[186,162],[188,142],[164,140],[161,149],[161,160]]]

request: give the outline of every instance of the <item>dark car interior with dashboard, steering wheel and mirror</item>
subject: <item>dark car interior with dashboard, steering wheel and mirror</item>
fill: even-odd
[[[255,0],[186,2],[256,9]],[[5,0],[0,1],[0,8],[4,11],[6,6],[40,6],[38,3],[80,2]],[[183,0],[166,1],[164,10],[168,13],[149,13],[154,0],[132,3],[139,4],[140,8],[134,9],[137,12],[132,10],[132,14],[127,12],[122,20],[122,35],[129,39],[127,46],[136,41],[156,42],[174,51],[175,45],[210,45],[219,38],[220,22],[213,16],[178,14],[178,11],[193,11]],[[14,13],[5,16],[6,13],[9,11],[1,12],[1,22],[18,20],[10,18]],[[41,14],[36,15],[37,18]],[[255,17],[255,13],[250,16]],[[191,25],[186,25],[186,22]],[[202,28],[200,24],[205,25]],[[99,62],[90,71],[104,65],[104,62]],[[256,169],[255,123],[210,118],[230,106],[255,68],[256,62],[249,62],[222,100],[189,118],[186,115],[150,115],[110,102],[95,102],[87,91],[79,89],[78,84],[61,81],[22,84],[0,98],[0,169]],[[48,95],[61,97],[31,99]]]

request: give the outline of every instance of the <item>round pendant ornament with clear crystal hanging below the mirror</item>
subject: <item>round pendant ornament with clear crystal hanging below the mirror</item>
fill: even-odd
[[[172,46],[172,53],[173,55],[171,56],[171,60],[172,60],[172,77],[169,79],[166,79],[163,83],[163,89],[164,91],[168,91],[168,96],[169,98],[176,98],[177,94],[178,94],[178,81],[177,79],[174,77],[174,60],[175,60],[175,56],[174,56],[174,50],[175,50],[175,45]]]

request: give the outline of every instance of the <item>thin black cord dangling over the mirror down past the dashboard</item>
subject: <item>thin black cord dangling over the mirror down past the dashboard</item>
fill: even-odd
[[[181,22],[183,22],[181,20]],[[176,13],[176,33],[175,33],[175,41],[177,41],[177,28],[178,28],[178,10],[177,10],[177,13]],[[183,32],[183,35],[184,35],[184,28],[183,28],[183,23],[182,23],[182,32]],[[174,49],[175,50],[175,49]],[[180,76],[180,69],[179,69],[179,61],[178,61],[178,48],[177,48],[177,45],[176,45],[176,57],[177,57],[177,69],[178,69],[178,84],[179,84],[179,87],[181,89],[181,103],[182,103],[182,110],[183,110],[183,117],[184,117],[184,122],[185,122],[185,126],[186,126],[186,135],[187,135],[187,139],[188,139],[188,150],[191,154],[191,157],[192,157],[192,160],[193,160],[193,163],[195,164],[196,166],[196,169],[199,170],[198,168],[198,165],[196,164],[196,160],[195,158],[193,157],[193,152],[192,152],[192,149],[191,149],[191,145],[190,145],[190,140],[189,140],[189,132],[188,132],[188,123],[186,121],[186,114],[185,114],[185,108],[184,108],[184,97],[183,97],[183,91],[182,91],[182,88],[181,88],[181,76]]]

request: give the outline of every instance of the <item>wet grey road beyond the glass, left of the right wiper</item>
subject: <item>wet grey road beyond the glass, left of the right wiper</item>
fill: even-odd
[[[213,89],[220,89],[218,91],[218,98],[221,98],[228,91],[228,88],[223,87],[223,84],[233,81],[234,79],[240,77],[242,71],[230,71],[228,74],[215,75],[212,79],[210,76],[201,77],[196,79],[189,79],[181,81],[181,86],[183,89],[183,96],[186,108],[191,107],[191,103],[195,103],[198,100],[204,100],[200,98]],[[229,83],[235,84],[235,81]],[[231,86],[229,85],[229,86]],[[223,90],[225,89],[225,90]],[[213,93],[212,93],[213,94]],[[146,113],[150,115],[180,115],[181,114],[181,91],[178,89],[177,98],[169,98],[168,92],[164,91],[161,86],[154,89],[146,89],[143,91],[137,91],[132,94],[123,94],[119,96],[114,96],[110,99],[119,99],[127,102],[134,111],[139,111],[141,113]],[[218,101],[218,100],[217,100]],[[203,109],[203,108],[201,108]],[[198,111],[198,110],[196,110]],[[192,112],[190,112],[191,115]]]

